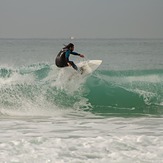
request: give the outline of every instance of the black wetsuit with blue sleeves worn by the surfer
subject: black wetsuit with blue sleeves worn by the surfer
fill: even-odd
[[[73,54],[73,55],[80,55],[76,52],[73,52],[69,49],[62,49],[56,59],[55,59],[55,64],[57,65],[57,67],[67,67],[68,64],[67,63],[70,63],[71,66],[75,69],[75,70],[78,70],[78,67],[75,65],[75,63],[73,61],[69,61],[69,57],[70,57],[70,54]]]

